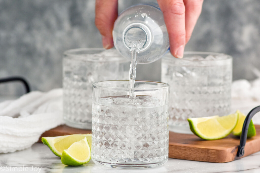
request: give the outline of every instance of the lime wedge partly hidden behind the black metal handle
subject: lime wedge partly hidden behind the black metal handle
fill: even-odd
[[[238,122],[237,122],[237,126],[235,127],[235,129],[232,131],[233,135],[236,136],[241,136],[241,132],[242,132],[242,127],[245,121],[245,114],[241,113],[239,110],[237,110],[236,114],[238,114]],[[247,133],[247,137],[252,137],[256,135],[256,128],[255,125],[253,124],[253,121],[251,120],[248,126],[248,133]]]

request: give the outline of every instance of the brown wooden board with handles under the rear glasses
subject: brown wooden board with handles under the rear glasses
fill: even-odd
[[[243,157],[260,151],[260,125],[255,125],[256,136],[248,139]],[[91,130],[76,129],[66,125],[48,130],[41,137],[91,133]],[[239,159],[236,154],[239,138],[230,134],[220,140],[206,141],[195,135],[169,133],[169,157],[203,162],[224,163]],[[41,142],[41,138],[38,142]]]

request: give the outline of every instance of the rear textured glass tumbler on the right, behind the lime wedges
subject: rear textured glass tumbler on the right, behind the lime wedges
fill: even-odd
[[[228,115],[231,106],[232,57],[210,52],[167,54],[161,81],[170,84],[169,129],[191,133],[187,118]]]

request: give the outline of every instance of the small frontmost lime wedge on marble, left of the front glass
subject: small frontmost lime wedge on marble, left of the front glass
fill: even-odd
[[[61,163],[69,166],[79,166],[88,163],[91,159],[91,150],[87,137],[74,142],[67,150],[63,150]]]

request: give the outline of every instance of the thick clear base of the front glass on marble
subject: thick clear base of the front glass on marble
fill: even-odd
[[[106,162],[98,161],[92,158],[92,161],[97,165],[102,165],[110,168],[119,168],[119,169],[147,169],[154,168],[159,165],[162,165],[168,161],[168,158],[160,162],[148,162],[148,163],[118,163],[118,162]]]

